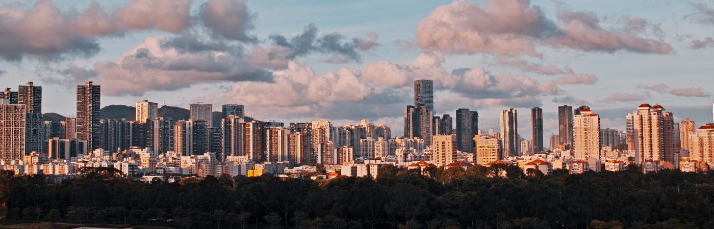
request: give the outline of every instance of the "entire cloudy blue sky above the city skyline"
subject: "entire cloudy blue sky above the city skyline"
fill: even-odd
[[[0,86],[43,86],[73,116],[76,85],[102,106],[241,103],[260,120],[328,118],[403,133],[413,81],[438,115],[587,104],[624,128],[640,103],[712,122],[714,1],[0,1]]]

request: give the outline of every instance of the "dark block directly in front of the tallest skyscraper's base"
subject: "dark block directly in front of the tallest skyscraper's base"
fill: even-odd
[[[423,138],[431,144],[431,120],[433,116],[426,106],[406,106],[404,109],[404,137]]]

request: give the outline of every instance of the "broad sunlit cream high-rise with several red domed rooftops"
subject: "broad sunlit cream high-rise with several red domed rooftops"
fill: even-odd
[[[678,163],[674,152],[674,116],[656,104],[643,103],[633,111],[635,160]]]

